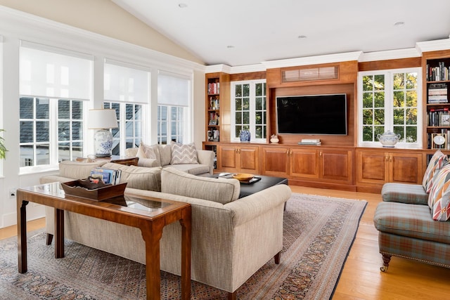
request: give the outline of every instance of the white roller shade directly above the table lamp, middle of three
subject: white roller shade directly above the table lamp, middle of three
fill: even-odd
[[[150,72],[105,63],[105,101],[148,103]]]

